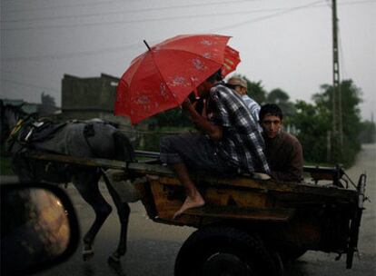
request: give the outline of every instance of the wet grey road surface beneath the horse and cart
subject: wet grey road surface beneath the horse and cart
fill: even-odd
[[[364,145],[356,165],[347,173],[354,182],[357,182],[357,177],[364,171],[368,173],[366,192],[371,198],[371,202],[366,202],[366,210],[363,212],[361,222],[360,259],[355,255],[353,268],[346,270],[345,256],[342,256],[340,261],[334,261],[336,254],[308,251],[291,267],[286,268],[286,276],[376,275],[376,144]],[[105,198],[111,202],[104,185],[101,187]],[[92,222],[94,213],[77,195],[74,188],[68,188],[67,192],[74,201],[81,229],[84,232]],[[173,275],[175,256],[183,241],[194,230],[188,227],[167,226],[152,222],[147,218],[140,202],[131,203],[131,209],[128,252],[121,262],[121,268],[114,270],[107,265],[106,261],[116,247],[120,229],[116,213],[113,212],[97,236],[94,244],[95,255],[91,261],[82,261],[81,248],[79,248],[69,261],[37,275]]]

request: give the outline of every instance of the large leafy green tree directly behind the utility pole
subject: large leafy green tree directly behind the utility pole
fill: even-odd
[[[297,113],[294,125],[298,128],[298,138],[301,140],[305,159],[312,162],[324,162],[331,145],[331,162],[350,166],[355,161],[356,154],[361,150],[359,135],[361,133],[361,89],[351,80],[340,84],[343,123],[343,146],[336,147],[338,133],[332,133],[331,96],[333,88],[322,84],[321,93],[314,94],[314,104],[299,102],[295,105]],[[331,139],[328,140],[328,134]],[[333,154],[334,153],[334,154]]]

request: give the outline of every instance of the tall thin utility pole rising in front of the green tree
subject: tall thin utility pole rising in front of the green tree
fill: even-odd
[[[338,46],[338,17],[337,0],[331,2],[332,17],[332,44],[333,44],[333,91],[332,91],[332,135],[334,151],[342,152],[342,104],[341,104],[341,80],[340,80],[340,59]],[[334,156],[332,156],[333,158]]]

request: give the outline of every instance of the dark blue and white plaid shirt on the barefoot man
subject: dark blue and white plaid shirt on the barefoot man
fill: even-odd
[[[258,123],[239,94],[223,83],[216,84],[207,102],[207,113],[212,123],[223,127],[223,138],[213,142],[223,158],[247,173],[270,173]]]

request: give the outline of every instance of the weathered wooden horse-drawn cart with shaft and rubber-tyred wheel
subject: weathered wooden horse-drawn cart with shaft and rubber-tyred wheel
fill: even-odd
[[[304,167],[311,183],[275,182],[254,175],[228,178],[193,175],[206,204],[173,220],[185,193],[158,153],[136,151],[147,160],[122,163],[45,153],[32,158],[115,168],[135,185],[154,222],[188,225],[196,232],[183,243],[175,275],[282,275],[282,265],[305,251],[347,255],[357,251],[366,175],[357,184],[340,167]],[[339,258],[338,258],[339,259]],[[224,272],[223,272],[224,271]],[[222,274],[221,274],[222,275]]]

